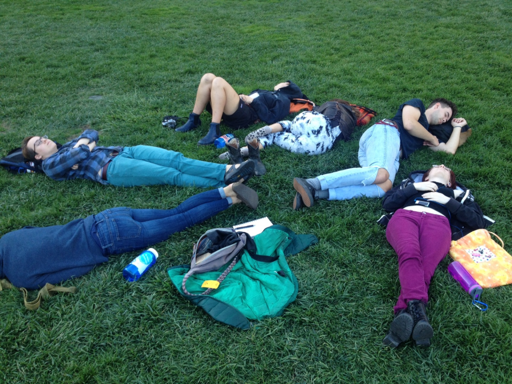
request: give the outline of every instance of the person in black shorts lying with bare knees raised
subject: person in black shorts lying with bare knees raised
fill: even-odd
[[[187,132],[201,125],[199,116],[206,109],[211,113],[208,133],[199,144],[213,144],[220,133],[221,120],[233,130],[264,121],[273,124],[290,112],[290,99],[305,98],[300,88],[291,81],[277,84],[272,92],[257,90],[250,96],[239,95],[222,77],[206,73],[199,82],[194,109],[188,121],[176,132]]]

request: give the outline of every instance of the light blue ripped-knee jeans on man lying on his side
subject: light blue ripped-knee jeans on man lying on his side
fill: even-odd
[[[338,170],[318,176],[322,190],[329,190],[329,200],[349,200],[361,196],[382,197],[385,192],[373,184],[379,168],[385,168],[395,181],[400,159],[400,134],[391,125],[374,124],[359,140],[360,168]]]

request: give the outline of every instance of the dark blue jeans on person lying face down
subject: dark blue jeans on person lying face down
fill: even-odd
[[[91,234],[104,255],[131,252],[165,241],[175,232],[199,224],[231,205],[222,188],[192,196],[174,209],[106,209],[94,216]],[[94,233],[96,232],[96,233]]]

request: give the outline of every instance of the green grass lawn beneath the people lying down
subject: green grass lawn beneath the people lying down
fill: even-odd
[[[0,155],[28,135],[66,142],[91,127],[102,145],[143,143],[220,162],[219,150],[196,144],[209,115],[187,134],[160,123],[165,115],[188,116],[206,72],[223,76],[240,93],[291,79],[317,103],[344,98],[381,118],[393,117],[413,97],[425,103],[446,97],[458,104],[473,136],[455,156],[416,152],[402,162],[396,182],[431,164],[450,166],[512,251],[511,19],[510,2],[485,0],[0,0]],[[102,98],[90,99],[96,95]],[[137,283],[121,275],[134,252],[68,282],[76,294],[55,296],[36,312],[25,310],[19,292],[0,292],[0,378],[512,382],[510,287],[485,290],[489,310],[480,312],[447,273],[446,258],[430,288],[433,345],[390,350],[381,340],[399,284],[396,255],[375,222],[381,202],[321,201],[292,210],[293,177],[357,166],[362,132],[322,156],[265,150],[268,173],[249,181],[260,195],[258,210],[235,206],[174,234],[155,246],[161,257]],[[171,208],[199,191],[55,182],[0,170],[0,234],[114,206]],[[206,229],[263,216],[314,233],[320,242],[288,259],[300,289],[283,316],[240,331],[183,300],[165,270],[186,263],[191,243]]]

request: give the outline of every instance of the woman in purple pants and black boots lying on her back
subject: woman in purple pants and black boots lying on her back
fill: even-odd
[[[455,174],[444,165],[433,165],[422,178],[421,173],[411,174],[386,193],[382,207],[394,212],[386,238],[398,255],[400,280],[395,317],[382,341],[396,348],[412,336],[416,345],[428,347],[434,330],[425,306],[434,271],[452,239],[487,222],[470,190],[457,188]]]

